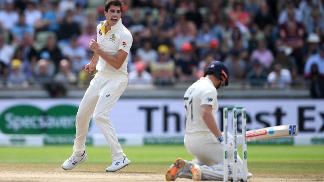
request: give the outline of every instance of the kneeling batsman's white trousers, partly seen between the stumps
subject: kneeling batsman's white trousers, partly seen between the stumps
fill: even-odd
[[[233,136],[228,133],[228,138],[228,162],[233,163]],[[184,135],[184,146],[201,166],[214,166],[223,162],[223,145],[209,131],[186,133]],[[243,161],[239,155],[237,159],[238,168],[243,169]]]

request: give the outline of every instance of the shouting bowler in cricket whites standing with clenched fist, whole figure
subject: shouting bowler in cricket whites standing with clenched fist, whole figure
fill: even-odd
[[[113,162],[106,168],[106,172],[115,172],[131,164],[117,140],[109,113],[127,86],[125,60],[133,38],[122,24],[123,3],[120,0],[107,0],[104,7],[107,19],[97,26],[97,41],[92,39],[89,43],[94,55],[84,68],[89,73],[96,68],[98,73],[90,82],[80,103],[76,115],[73,154],[63,163],[64,170],[72,170],[88,158],[85,142],[91,115],[110,146]]]

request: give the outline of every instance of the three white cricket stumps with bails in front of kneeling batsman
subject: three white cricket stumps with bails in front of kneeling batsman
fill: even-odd
[[[224,134],[224,142],[223,142],[223,149],[224,149],[224,182],[228,181],[228,110],[232,110],[233,112],[233,137],[234,137],[234,150],[233,150],[233,182],[237,181],[237,109],[241,109],[242,111],[242,155],[243,155],[243,181],[247,181],[247,174],[248,174],[248,164],[247,164],[247,139],[246,139],[246,109],[245,107],[224,107],[223,109],[223,134]]]

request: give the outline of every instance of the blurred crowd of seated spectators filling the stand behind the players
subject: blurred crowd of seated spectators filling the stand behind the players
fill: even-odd
[[[171,86],[224,62],[245,88],[324,97],[324,0],[122,0],[130,85]],[[87,86],[105,0],[1,0],[0,87]]]

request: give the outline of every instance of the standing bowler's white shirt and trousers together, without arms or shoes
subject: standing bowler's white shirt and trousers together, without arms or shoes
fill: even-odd
[[[97,26],[97,42],[100,48],[114,57],[116,57],[120,49],[129,53],[133,38],[128,29],[122,24],[122,19],[112,26],[107,33],[105,33],[105,23],[106,21],[102,21]],[[98,73],[90,82],[76,115],[74,155],[80,156],[84,153],[92,115],[98,128],[109,143],[112,159],[116,160],[126,156],[118,142],[114,126],[109,119],[110,111],[127,87],[126,60],[122,67],[117,70],[99,56],[96,67]]]

